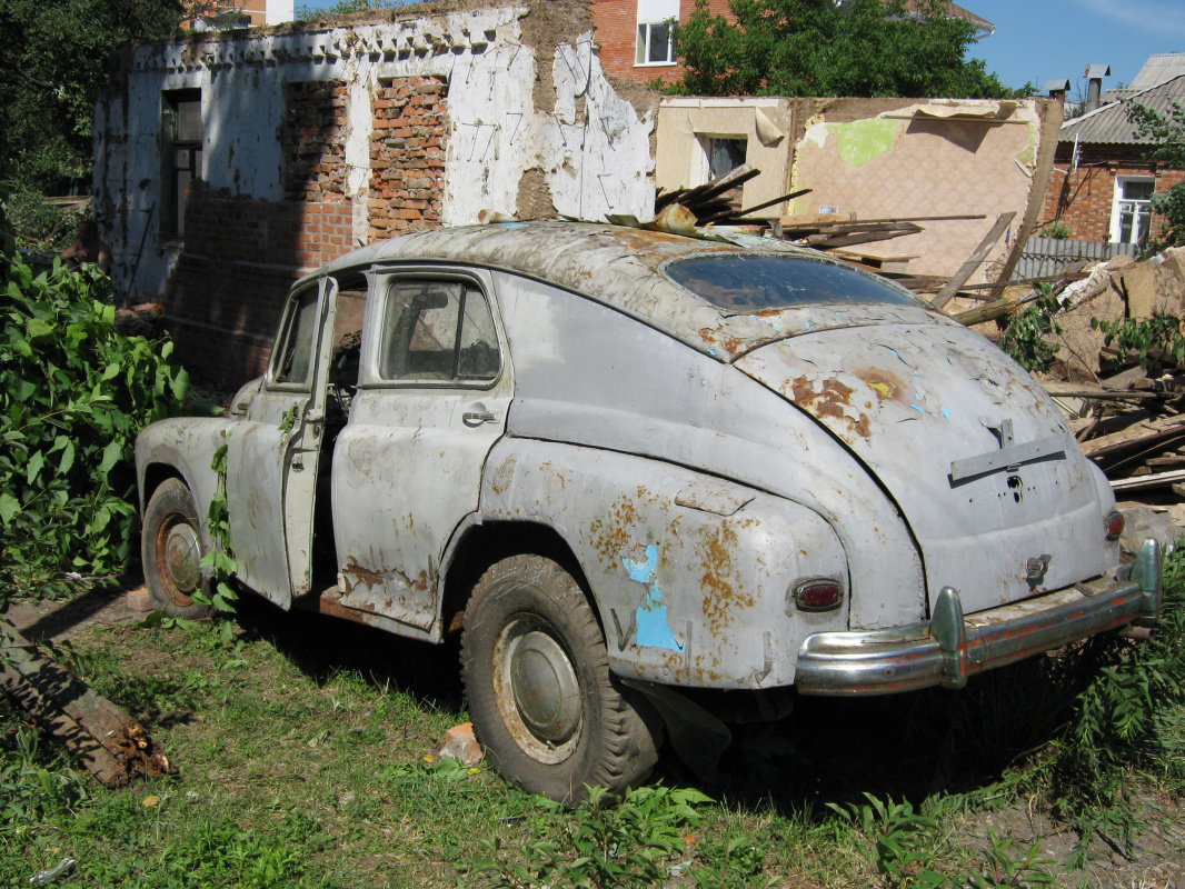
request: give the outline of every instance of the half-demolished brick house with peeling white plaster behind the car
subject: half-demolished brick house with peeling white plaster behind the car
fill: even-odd
[[[262,371],[289,286],[410,229],[653,211],[658,100],[617,96],[579,0],[460,0],[128,46],[95,117],[96,216],[178,358]]]

